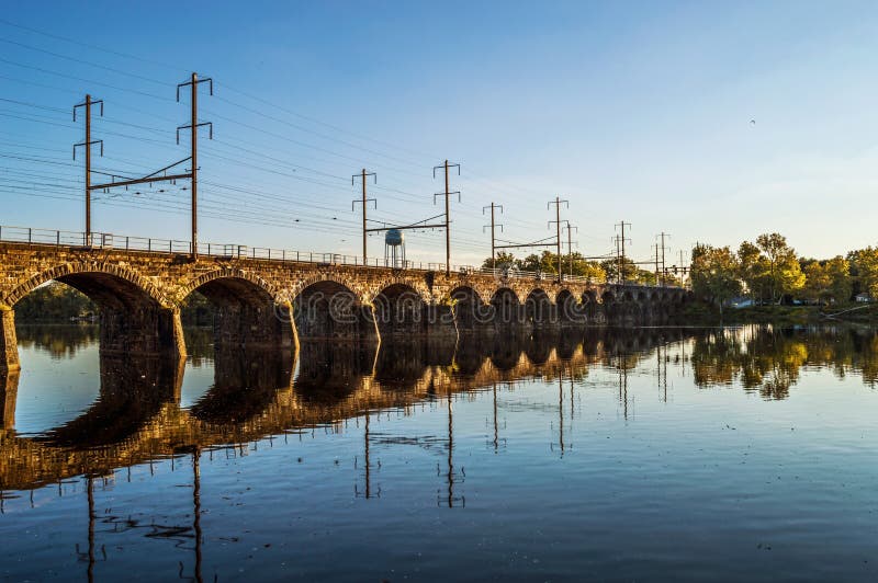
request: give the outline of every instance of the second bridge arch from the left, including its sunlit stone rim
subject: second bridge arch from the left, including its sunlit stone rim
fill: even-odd
[[[221,268],[189,282],[178,295],[182,302],[192,293],[216,308],[214,345],[217,347],[277,347],[295,343],[292,318],[278,290],[247,271]]]

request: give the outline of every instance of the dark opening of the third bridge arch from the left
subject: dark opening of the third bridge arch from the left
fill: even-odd
[[[372,309],[338,282],[305,287],[293,300],[293,315],[300,341],[378,340]]]

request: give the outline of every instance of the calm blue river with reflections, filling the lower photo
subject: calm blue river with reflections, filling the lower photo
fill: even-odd
[[[4,580],[878,580],[875,330],[18,334]]]

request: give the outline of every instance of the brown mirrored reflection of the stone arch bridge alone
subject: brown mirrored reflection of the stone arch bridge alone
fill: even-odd
[[[10,371],[0,376],[0,487],[40,488],[348,419],[368,422],[373,411],[405,413],[424,400],[494,390],[534,376],[577,378],[594,363],[624,354],[642,358],[669,340],[668,333],[595,329],[577,335],[547,331],[504,339],[315,342],[303,343],[295,356],[218,350],[214,384],[190,408],[180,403],[185,361],[101,354],[97,400],[78,418],[40,435],[15,432],[20,373]],[[195,347],[190,358],[207,354]]]

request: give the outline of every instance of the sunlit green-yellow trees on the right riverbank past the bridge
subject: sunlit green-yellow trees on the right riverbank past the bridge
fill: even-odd
[[[736,251],[698,244],[691,255],[691,285],[720,311],[741,295],[758,305],[843,304],[860,293],[878,297],[878,248],[832,259],[801,258],[776,232],[743,241]]]

